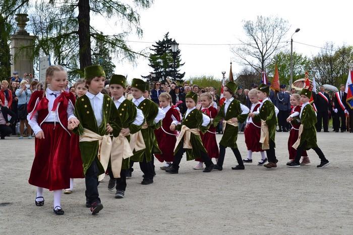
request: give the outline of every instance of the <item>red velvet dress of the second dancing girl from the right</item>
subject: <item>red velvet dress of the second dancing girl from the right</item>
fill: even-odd
[[[255,106],[252,105],[250,112],[252,113],[256,111],[259,107],[260,104]],[[261,148],[261,143],[259,142],[261,135],[261,122],[254,121],[254,118],[251,120],[252,122],[248,122],[244,130],[245,143],[248,150],[252,150],[253,152],[261,152],[263,151]]]

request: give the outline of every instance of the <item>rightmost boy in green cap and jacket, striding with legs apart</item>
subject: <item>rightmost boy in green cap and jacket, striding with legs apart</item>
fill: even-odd
[[[315,124],[317,122],[316,113],[309,102],[312,96],[311,90],[312,87],[310,87],[309,89],[304,88],[300,93],[301,102],[303,103],[303,105],[299,117],[302,124],[299,127],[298,140],[292,145],[293,148],[297,149],[296,158],[293,162],[287,163],[287,166],[290,168],[300,167],[299,161],[301,159],[302,152],[304,150],[309,150],[310,148],[314,149],[316,154],[319,155],[321,163],[317,166],[318,168],[324,168],[330,164],[330,162],[325,158],[324,153],[317,145],[315,128]]]

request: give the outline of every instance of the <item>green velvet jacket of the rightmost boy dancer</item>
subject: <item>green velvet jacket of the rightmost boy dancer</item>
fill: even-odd
[[[304,141],[307,141],[306,150],[310,148],[317,147],[316,140],[316,128],[315,124],[317,122],[316,114],[313,107],[308,104],[304,107],[301,117],[301,122],[303,124],[303,132],[300,139],[299,146],[302,146]]]

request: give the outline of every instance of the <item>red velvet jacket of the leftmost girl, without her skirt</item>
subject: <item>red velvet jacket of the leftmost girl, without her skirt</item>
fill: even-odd
[[[45,121],[49,114],[48,100],[46,97],[43,97],[43,92],[44,91],[35,91],[31,95],[31,99],[29,100],[27,106],[27,111],[31,114],[31,117],[34,116],[36,112],[38,113],[37,121],[39,126]],[[66,131],[68,131],[68,105],[70,105],[69,103],[71,102],[75,107],[75,101],[75,96],[71,92],[62,92],[62,94],[54,101],[53,107],[55,107],[57,103],[56,114],[60,120],[60,124]]]

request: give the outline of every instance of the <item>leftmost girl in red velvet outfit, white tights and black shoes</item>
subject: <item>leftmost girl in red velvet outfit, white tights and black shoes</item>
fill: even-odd
[[[64,214],[62,189],[70,185],[70,131],[68,124],[79,124],[73,115],[75,97],[64,92],[67,73],[60,65],[46,69],[43,91],[32,94],[28,103],[28,123],[35,133],[35,156],[28,182],[37,186],[35,204],[44,205],[43,188],[53,191],[53,211]]]

